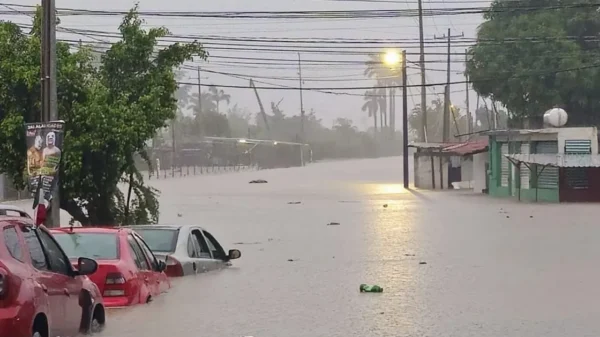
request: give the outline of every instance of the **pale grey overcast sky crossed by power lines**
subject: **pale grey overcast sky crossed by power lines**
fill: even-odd
[[[23,5],[35,5],[39,2],[32,0],[12,0],[11,3]],[[81,0],[56,0],[59,8],[85,8],[96,10],[127,10],[135,1],[128,0],[103,0],[98,2]],[[219,1],[190,1],[190,0],[142,0],[139,1],[142,11],[289,11],[289,10],[354,10],[354,9],[407,9],[417,8],[416,0],[396,0],[394,3],[368,3],[350,1],[328,1],[328,0],[219,0]],[[425,0],[424,8],[443,9],[456,7],[481,7],[487,6],[486,1],[456,1],[456,0]],[[27,17],[4,16],[3,19],[30,22]],[[120,22],[119,17],[64,17],[61,18],[61,26],[75,29],[91,29],[115,32]],[[480,14],[435,16],[425,19],[425,39],[431,39],[435,35],[441,36],[451,28],[452,34],[464,33],[466,38],[476,36],[477,26],[482,22]],[[147,18],[149,26],[166,26],[173,34],[178,35],[219,35],[229,37],[267,37],[267,38],[346,38],[346,39],[414,39],[418,35],[418,18],[369,18],[369,19],[206,19],[206,18]],[[86,36],[66,35],[59,33],[58,38],[89,40]],[[110,40],[106,38],[104,40]],[[201,41],[202,42],[202,41]],[[219,45],[207,45],[207,50],[212,55],[208,62],[193,62],[192,66],[201,65],[207,71],[217,71],[241,75],[241,77],[255,77],[256,81],[268,82],[270,84],[297,87],[298,68],[294,64],[298,55],[296,52],[263,52],[251,50],[217,50],[211,47],[223,47],[223,43],[244,43],[231,41],[206,41]],[[440,41],[441,42],[441,41]],[[254,43],[253,43],[254,44]],[[272,43],[269,44],[272,47]],[[295,46],[298,46],[295,44]],[[322,45],[321,45],[322,46]],[[439,47],[438,47],[439,46]],[[418,44],[411,42],[406,46],[398,45],[398,48],[406,48],[410,52],[418,52]],[[364,65],[358,61],[366,61],[365,49],[357,48],[356,54],[349,47],[344,47],[346,54],[325,53],[302,53],[305,60],[334,60],[355,61],[335,65],[319,65],[307,61],[302,67],[304,86],[315,87],[364,87],[374,85],[374,81],[364,77]],[[243,49],[243,48],[242,48]],[[338,49],[342,50],[342,49]],[[464,52],[465,43],[460,43],[453,52]],[[375,48],[368,49],[375,51]],[[445,45],[428,44],[426,53],[446,51]],[[249,64],[253,61],[240,60],[236,57],[260,58],[260,59],[285,59],[290,61],[256,61],[260,64]],[[408,71],[409,84],[419,84],[420,77],[416,65],[410,62],[418,62],[418,55],[409,55]],[[439,62],[428,62],[427,81],[430,83],[443,83],[446,81],[444,55],[427,55],[427,61],[437,60]],[[461,56],[453,56],[453,60],[462,60]],[[463,81],[464,64],[452,63],[452,81]],[[196,82],[196,73],[190,72],[187,81]],[[226,75],[203,72],[203,84],[247,86],[248,80]],[[265,78],[267,77],[267,78]],[[271,79],[273,77],[275,79]],[[257,86],[270,86],[257,83]],[[252,112],[258,112],[258,104],[254,93],[250,89],[225,88],[232,96],[232,104],[238,103],[240,107],[246,107]],[[451,88],[452,102],[464,110],[465,85],[456,84]],[[313,91],[304,91],[305,111],[314,109],[318,116],[328,126],[338,117],[347,117],[354,120],[357,126],[364,129],[371,126],[372,121],[367,114],[361,111],[363,98],[360,96],[364,90],[344,90],[348,93],[343,95],[325,94]],[[296,90],[267,90],[259,89],[263,103],[268,107],[269,102],[283,99],[280,107],[286,115],[295,115],[300,111],[299,92]],[[408,99],[409,109],[420,102],[419,88],[410,88]],[[443,86],[428,89],[428,101],[435,98],[434,93],[443,93]],[[353,96],[356,95],[356,96]],[[471,107],[475,106],[476,96],[471,92]],[[400,120],[401,97],[397,98],[397,120]],[[400,128],[400,124],[397,124]]]

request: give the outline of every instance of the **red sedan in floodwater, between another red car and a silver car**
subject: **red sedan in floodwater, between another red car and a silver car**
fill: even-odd
[[[83,256],[98,261],[98,271],[90,279],[100,288],[107,307],[148,303],[171,288],[165,263],[131,229],[70,227],[52,233],[71,259]]]

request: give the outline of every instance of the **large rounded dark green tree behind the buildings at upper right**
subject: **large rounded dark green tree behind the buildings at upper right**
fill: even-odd
[[[574,8],[570,5],[584,6]],[[495,0],[469,51],[473,88],[513,118],[564,107],[573,124],[598,124],[600,17],[591,0]],[[560,9],[518,10],[554,6]],[[562,8],[561,8],[562,6]],[[581,70],[562,71],[565,69]]]

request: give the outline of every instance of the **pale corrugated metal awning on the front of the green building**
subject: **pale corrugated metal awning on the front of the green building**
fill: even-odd
[[[600,155],[597,154],[508,154],[514,161],[553,167],[600,167]]]

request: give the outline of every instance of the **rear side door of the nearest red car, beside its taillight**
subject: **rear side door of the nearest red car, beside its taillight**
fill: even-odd
[[[63,284],[64,279],[51,271],[37,231],[28,225],[22,225],[20,229],[27,246],[31,265],[35,269],[36,288],[39,287],[42,293],[46,294],[48,312],[45,314],[48,316],[49,336],[65,336],[69,330],[69,324],[64,319],[68,301],[65,293],[66,288]]]

